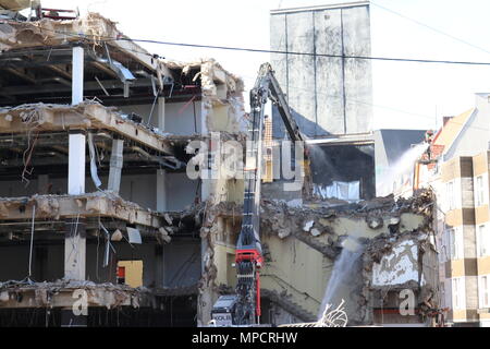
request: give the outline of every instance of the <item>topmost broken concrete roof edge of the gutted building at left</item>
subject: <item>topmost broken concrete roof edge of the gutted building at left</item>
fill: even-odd
[[[204,95],[219,101],[215,81],[224,84],[230,93],[241,94],[244,91],[243,80],[224,70],[213,59],[201,59],[195,62],[177,62],[161,59],[134,43],[117,27],[117,23],[99,13],[89,12],[84,17],[68,21],[42,19],[37,22],[16,22],[2,20],[0,32],[0,50],[9,51],[21,48],[60,46],[66,43],[85,43],[95,47],[115,48],[138,61],[158,76],[160,88],[163,88],[163,76],[171,76],[170,70],[181,70],[187,74],[192,68],[200,68]],[[196,80],[198,76],[194,76]],[[222,100],[222,99],[221,99]]]

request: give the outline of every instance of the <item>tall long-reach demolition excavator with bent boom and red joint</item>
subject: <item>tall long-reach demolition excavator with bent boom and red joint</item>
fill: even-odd
[[[262,133],[266,104],[270,99],[278,108],[291,141],[304,141],[294,121],[284,94],[269,63],[260,67],[250,91],[252,129],[246,153],[245,193],[242,230],[236,244],[236,294],[222,296],[212,309],[217,326],[256,325],[260,323],[260,184],[262,173]]]

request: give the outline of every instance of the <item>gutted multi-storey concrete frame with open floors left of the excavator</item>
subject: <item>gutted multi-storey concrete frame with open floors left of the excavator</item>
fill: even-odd
[[[97,14],[2,21],[0,49],[1,324],[32,309],[51,314],[34,324],[75,324],[75,289],[88,324],[144,304],[164,309],[158,324],[193,324],[198,218],[173,213],[215,188],[187,178],[185,148],[240,137],[242,81],[212,60],[154,57]],[[114,286],[123,261],[143,262],[133,288]]]

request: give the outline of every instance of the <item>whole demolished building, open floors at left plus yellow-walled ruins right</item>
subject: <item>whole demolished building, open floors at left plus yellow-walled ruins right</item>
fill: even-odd
[[[216,134],[246,140],[241,79],[154,56],[94,13],[2,20],[0,49],[0,326],[206,326],[236,282],[243,180],[204,173],[225,156]],[[352,325],[436,322],[430,192],[271,193],[262,323],[341,299]]]

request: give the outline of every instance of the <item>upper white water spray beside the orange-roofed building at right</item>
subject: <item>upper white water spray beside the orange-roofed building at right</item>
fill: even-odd
[[[429,144],[427,143],[420,143],[411,147],[396,160],[394,165],[384,170],[378,179],[378,183],[380,183],[380,185],[378,185],[378,196],[387,196],[392,194],[395,190],[395,182],[403,180],[406,176],[412,178],[415,161],[420,158],[428,147]],[[401,188],[396,186],[396,189]]]

